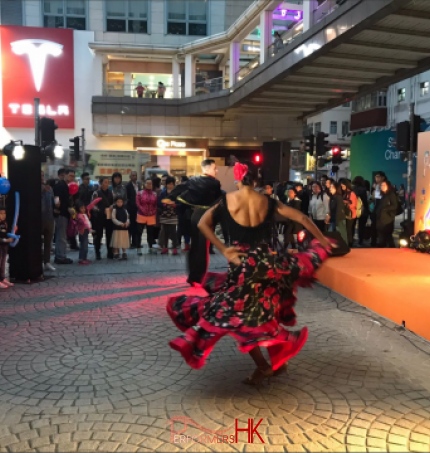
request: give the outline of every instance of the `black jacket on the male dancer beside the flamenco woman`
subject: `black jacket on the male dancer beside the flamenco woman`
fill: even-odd
[[[221,198],[221,183],[212,176],[198,176],[185,183],[186,189],[177,200],[191,206],[208,209]]]

